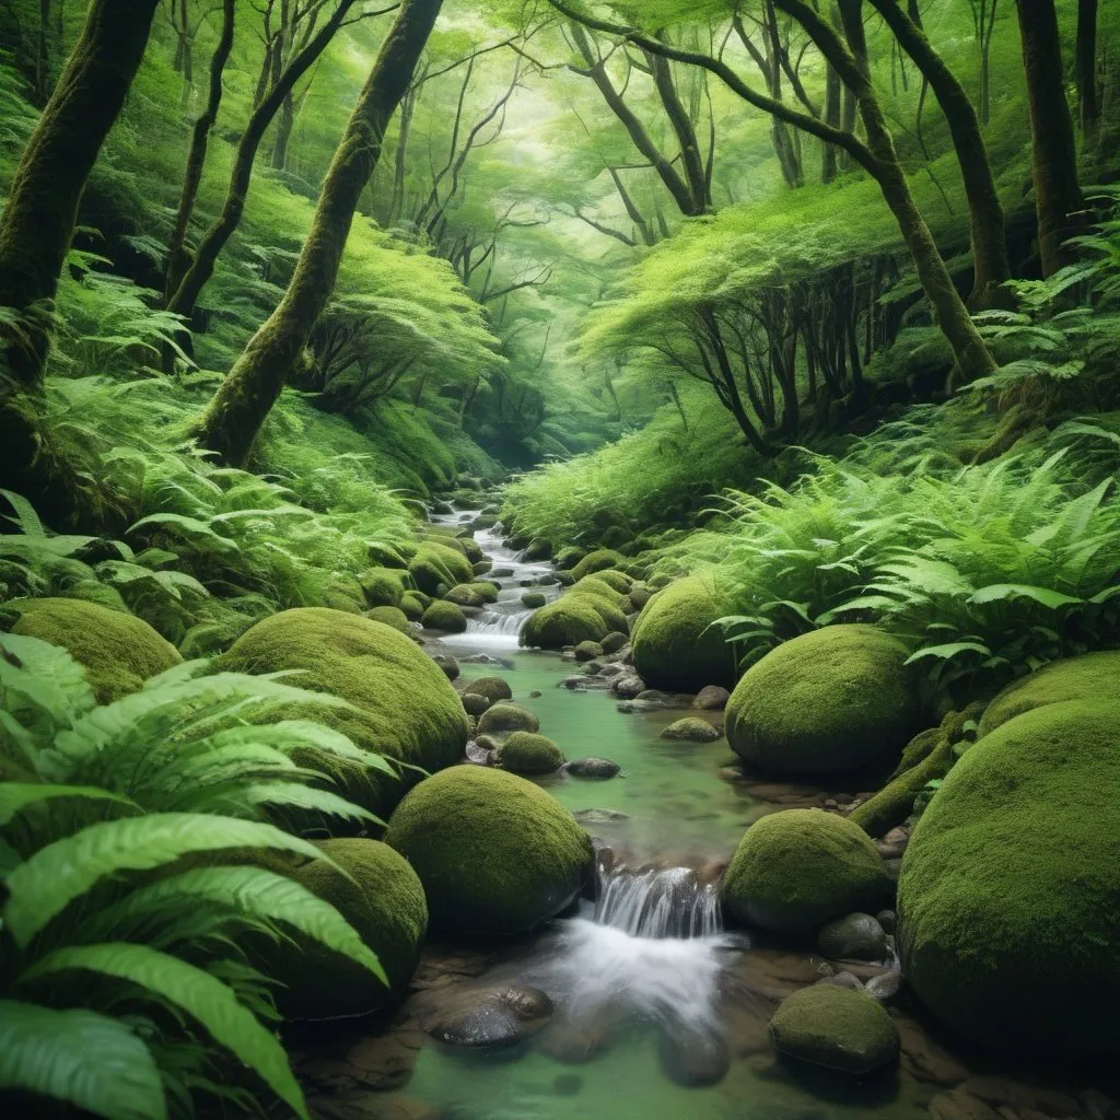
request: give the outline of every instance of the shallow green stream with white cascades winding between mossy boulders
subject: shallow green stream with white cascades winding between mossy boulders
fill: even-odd
[[[474,516],[435,520],[457,525]],[[551,566],[521,561],[493,531],[478,531],[475,539],[500,573],[485,577],[501,585],[500,598],[469,619],[466,633],[438,646],[459,660],[467,680],[494,674],[506,680],[514,702],[536,712],[541,731],[569,759],[601,756],[622,766],[622,774],[607,781],[563,772],[536,780],[596,839],[595,897],[516,944],[430,946],[414,984],[420,995],[392,1021],[357,1023],[343,1028],[342,1038],[319,1038],[319,1055],[323,1047],[333,1062],[346,1055],[335,1065],[320,1063],[320,1071],[334,1071],[324,1079],[333,1105],[323,1114],[345,1120],[928,1118],[931,1099],[970,1072],[928,1025],[899,1014],[903,1061],[872,1077],[794,1071],[775,1057],[767,1039],[774,1001],[820,979],[829,965],[808,946],[722,928],[718,876],[744,830],[775,802],[820,805],[827,793],[745,781],[724,739],[701,745],[660,738],[683,715],[680,708],[625,711],[603,689],[566,687],[582,666],[517,646],[530,614],[521,603],[523,585],[547,580]],[[559,594],[556,586],[533,589],[549,598]],[[721,713],[688,713],[721,719]],[[865,965],[859,974],[866,979],[888,968]],[[545,991],[556,1007],[549,1026],[512,1047],[472,1049],[435,1042],[410,1018],[417,999],[438,1001],[441,991],[495,984]],[[396,1057],[386,1058],[386,1048]],[[394,1061],[407,1066],[395,1080],[362,1073],[383,1072],[386,1063],[396,1070]]]

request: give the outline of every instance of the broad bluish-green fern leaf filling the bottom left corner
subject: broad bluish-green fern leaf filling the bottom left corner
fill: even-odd
[[[0,1090],[53,1096],[106,1120],[167,1117],[148,1047],[93,1011],[0,1000]]]

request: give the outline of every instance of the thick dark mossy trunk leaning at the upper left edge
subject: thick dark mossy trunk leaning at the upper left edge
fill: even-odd
[[[158,0],[93,0],[82,36],[28,140],[0,217],[0,357],[37,388],[78,202],[143,57]]]

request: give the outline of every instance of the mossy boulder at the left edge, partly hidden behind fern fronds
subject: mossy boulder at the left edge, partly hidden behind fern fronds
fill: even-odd
[[[136,692],[149,676],[183,659],[146,622],[85,599],[17,599],[7,610],[19,617],[13,634],[60,645],[85,669],[97,703]]]

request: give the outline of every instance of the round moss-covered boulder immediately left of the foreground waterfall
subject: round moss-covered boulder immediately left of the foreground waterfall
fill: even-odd
[[[412,865],[433,928],[524,933],[560,913],[591,868],[591,842],[559,802],[524,778],[456,766],[398,805],[385,840]]]

